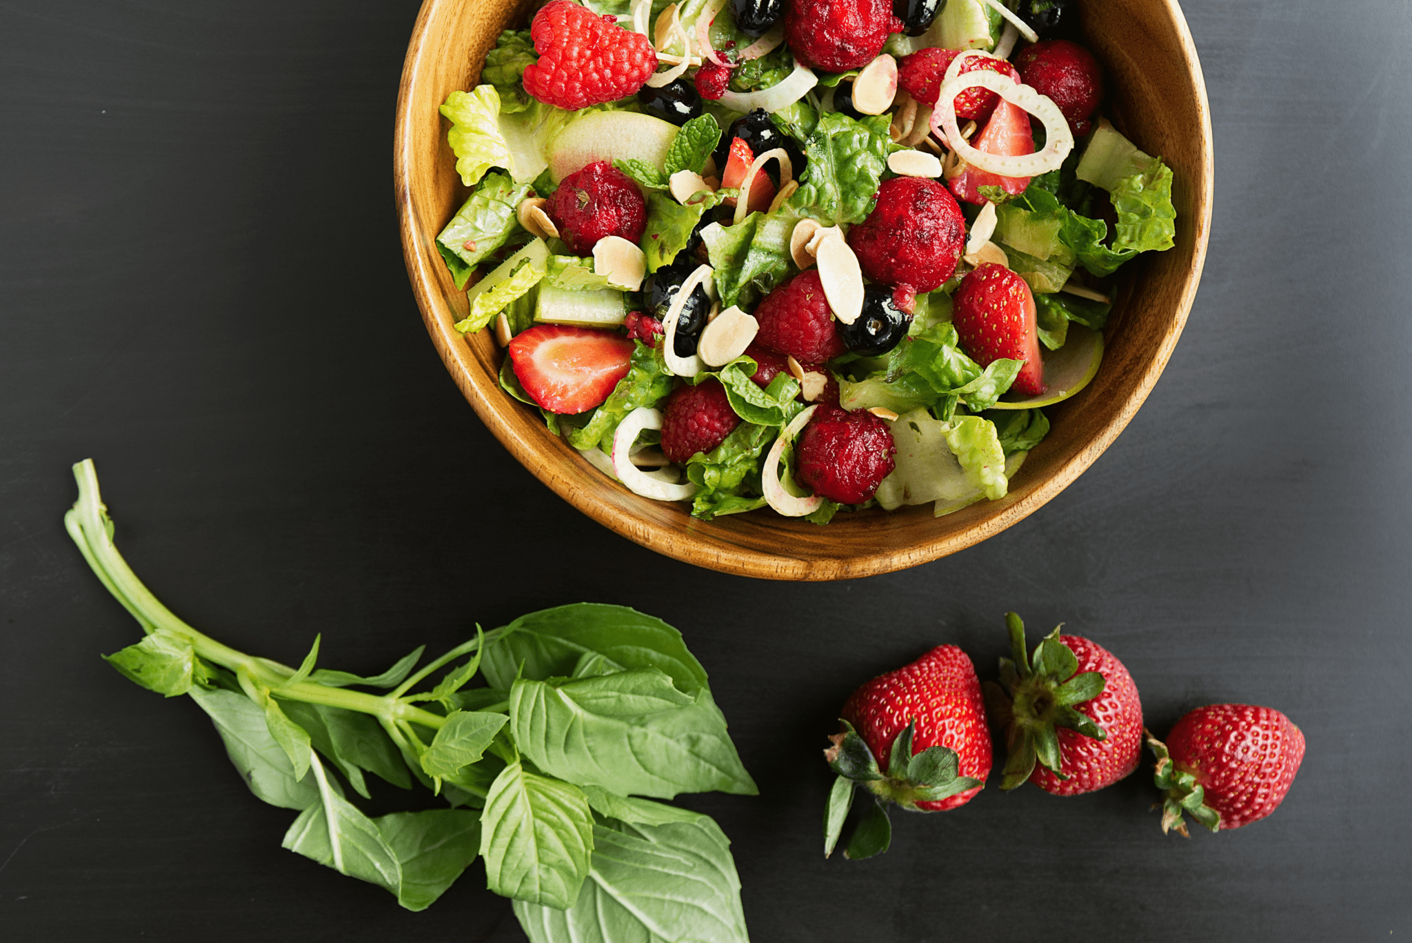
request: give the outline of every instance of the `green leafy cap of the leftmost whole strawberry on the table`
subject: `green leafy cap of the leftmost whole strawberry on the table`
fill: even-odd
[[[839,834],[843,831],[843,821],[853,803],[853,786],[856,785],[871,792],[874,802],[864,810],[857,830],[843,853],[846,858],[870,858],[887,851],[892,837],[887,803],[895,802],[909,812],[926,812],[918,809],[916,803],[949,799],[981,785],[979,779],[957,775],[960,759],[953,749],[928,746],[914,756],[915,718],[892,741],[885,773],[853,724],[844,720],[839,722],[843,724],[843,732],[830,737],[833,746],[823,751],[829,768],[839,775],[833,782],[823,819],[823,857],[826,858],[833,854]]]

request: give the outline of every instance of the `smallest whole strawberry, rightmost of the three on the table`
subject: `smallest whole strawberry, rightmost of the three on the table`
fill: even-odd
[[[1186,836],[1187,812],[1217,831],[1275,812],[1305,758],[1305,735],[1272,707],[1197,707],[1166,737],[1147,735],[1156,754],[1155,782],[1166,792],[1162,831]]]

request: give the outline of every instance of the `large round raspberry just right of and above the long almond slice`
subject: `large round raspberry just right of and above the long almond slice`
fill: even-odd
[[[868,218],[849,230],[849,245],[873,281],[935,291],[956,271],[966,218],[935,180],[894,177],[878,187]]]

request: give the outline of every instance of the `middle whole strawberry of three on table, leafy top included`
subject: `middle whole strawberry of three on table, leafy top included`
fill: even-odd
[[[1055,629],[1025,655],[1025,623],[1005,614],[1011,657],[986,683],[986,704],[1005,731],[1001,789],[1029,780],[1055,796],[1077,796],[1138,768],[1142,704],[1118,659],[1096,642]]]

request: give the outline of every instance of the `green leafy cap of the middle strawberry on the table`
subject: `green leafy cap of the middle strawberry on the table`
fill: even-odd
[[[1025,656],[1025,623],[1014,612],[1005,614],[1011,657],[1000,659],[1001,684],[986,681],[986,708],[1005,730],[1008,758],[1000,780],[1003,790],[1019,786],[1035,771],[1035,763],[1067,779],[1059,771],[1059,727],[1106,739],[1107,731],[1075,710],[1103,693],[1099,672],[1079,670],[1079,659],[1059,640],[1059,629],[1046,635]],[[1004,687],[1001,687],[1004,686]]]

